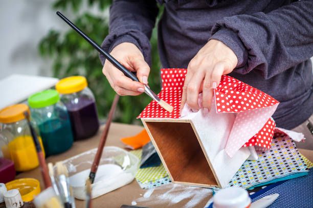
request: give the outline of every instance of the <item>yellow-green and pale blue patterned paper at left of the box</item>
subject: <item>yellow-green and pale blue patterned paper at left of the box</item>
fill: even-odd
[[[142,149],[133,150],[131,153],[135,154],[141,160]],[[163,164],[158,167],[139,168],[135,178],[143,189],[153,188],[171,182]]]

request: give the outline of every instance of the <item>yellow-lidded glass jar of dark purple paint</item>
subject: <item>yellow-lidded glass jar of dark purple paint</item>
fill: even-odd
[[[98,113],[94,94],[87,87],[85,77],[66,77],[55,88],[68,109],[74,140],[94,136],[99,129]]]

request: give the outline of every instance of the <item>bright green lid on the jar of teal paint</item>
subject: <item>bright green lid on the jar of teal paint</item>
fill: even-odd
[[[35,93],[28,98],[28,104],[31,108],[44,108],[51,106],[59,101],[59,93],[56,90],[44,90]]]

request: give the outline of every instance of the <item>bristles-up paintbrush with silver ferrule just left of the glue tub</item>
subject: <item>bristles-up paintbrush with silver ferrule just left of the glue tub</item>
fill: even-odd
[[[62,162],[56,163],[58,187],[60,191],[60,197],[64,203],[65,208],[71,208],[71,193],[70,193],[70,181],[68,178],[68,169]]]

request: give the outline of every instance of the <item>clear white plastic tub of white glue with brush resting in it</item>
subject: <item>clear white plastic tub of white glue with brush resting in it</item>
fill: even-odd
[[[84,200],[86,197],[85,182],[96,152],[97,148],[63,161],[68,168],[70,185],[77,199]],[[138,164],[139,159],[130,152],[115,146],[104,147],[96,178],[92,184],[92,198],[129,184],[135,178]]]

